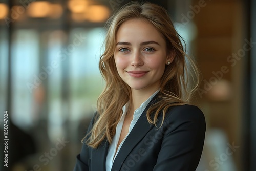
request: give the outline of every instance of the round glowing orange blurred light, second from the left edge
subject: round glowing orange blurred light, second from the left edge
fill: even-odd
[[[28,8],[28,15],[35,18],[47,17],[50,11],[50,3],[46,1],[32,2]]]

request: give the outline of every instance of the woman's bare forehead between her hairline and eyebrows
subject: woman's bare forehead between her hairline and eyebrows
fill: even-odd
[[[125,21],[117,30],[116,40],[118,41],[159,41],[165,44],[162,34],[156,27],[143,18],[133,18]]]

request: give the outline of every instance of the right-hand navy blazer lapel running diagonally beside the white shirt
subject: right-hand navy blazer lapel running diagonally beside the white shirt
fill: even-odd
[[[150,103],[146,106],[145,110],[141,114],[140,118],[134,125],[132,131],[130,134],[127,136],[125,141],[123,142],[123,145],[120,148],[120,151],[118,152],[112,169],[111,170],[120,170],[121,166],[126,159],[126,157],[131,153],[132,149],[141,141],[141,139],[146,135],[148,131],[152,129],[154,125],[148,123],[147,118],[146,118],[146,111],[147,109],[154,103],[156,103],[159,98],[157,98],[158,95],[156,95]]]

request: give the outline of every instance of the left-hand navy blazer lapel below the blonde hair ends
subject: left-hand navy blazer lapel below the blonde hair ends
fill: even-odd
[[[97,149],[92,149],[91,170],[106,170],[106,155],[108,154],[109,142],[105,139]],[[103,163],[103,164],[102,164]]]

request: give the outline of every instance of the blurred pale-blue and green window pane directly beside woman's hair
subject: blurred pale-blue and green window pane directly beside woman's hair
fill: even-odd
[[[80,37],[81,42],[70,56],[71,120],[90,115],[96,109],[103,87],[98,63],[104,34],[103,28],[71,31],[71,40]]]

